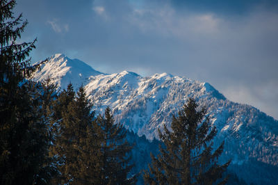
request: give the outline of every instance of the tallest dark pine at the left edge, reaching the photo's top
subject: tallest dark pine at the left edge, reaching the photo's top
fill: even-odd
[[[38,83],[28,80],[35,40],[16,42],[27,22],[13,17],[14,7],[15,0],[0,1],[0,184],[47,184],[47,125]]]

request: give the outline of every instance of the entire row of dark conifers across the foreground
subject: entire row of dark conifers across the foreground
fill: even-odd
[[[32,80],[40,67],[29,58],[36,40],[17,42],[27,22],[13,17],[15,4],[0,3],[0,184],[136,184],[134,144],[110,108],[96,115],[83,86],[57,91],[51,79]],[[227,182],[230,161],[218,164],[224,143],[213,149],[216,129],[206,108],[197,110],[188,99],[171,128],[159,131],[161,154],[151,154],[145,184]]]

